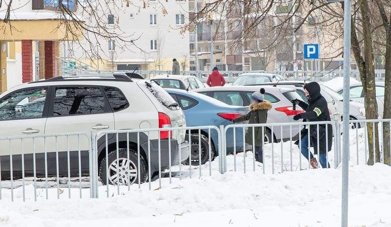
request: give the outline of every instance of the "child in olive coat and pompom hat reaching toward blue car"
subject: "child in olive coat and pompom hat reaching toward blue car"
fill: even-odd
[[[234,123],[241,121],[249,121],[249,124],[263,124],[268,119],[268,111],[272,108],[272,103],[263,99],[265,89],[261,88],[260,91],[254,92],[251,96],[251,104],[249,106],[250,112],[244,116],[235,118]],[[255,160],[263,162],[262,144],[264,142],[265,128],[262,131],[262,127],[254,127],[254,148],[255,148]],[[246,132],[246,143],[253,145],[253,127],[249,127]]]

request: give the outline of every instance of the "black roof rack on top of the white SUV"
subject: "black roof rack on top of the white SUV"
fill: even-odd
[[[133,80],[126,74],[86,74],[86,75],[67,75],[67,76],[57,76],[47,80],[39,80],[29,82],[31,83],[41,83],[41,82],[53,82],[53,81],[80,81],[80,80],[115,80],[115,81],[124,81],[124,82],[133,82]]]

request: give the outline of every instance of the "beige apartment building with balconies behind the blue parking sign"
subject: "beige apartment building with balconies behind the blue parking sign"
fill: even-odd
[[[208,0],[207,0],[208,1]],[[192,12],[200,11],[207,2],[203,0],[189,1],[189,18],[194,17]],[[283,34],[284,39],[273,44],[273,35],[267,34],[263,26],[273,26],[283,21],[289,13],[297,10],[297,14],[305,14],[302,7],[295,9],[293,1],[277,2],[269,16],[266,16],[263,25],[259,25],[251,41],[240,44],[241,7],[234,6],[224,17],[217,17],[212,22],[213,62],[221,70],[322,70],[338,68],[342,56],[334,57],[336,51],[342,47],[342,40],[335,39],[330,45],[331,38],[315,30],[316,17],[308,18],[304,25],[295,33],[290,30]],[[220,12],[216,15],[224,15]],[[293,17],[290,23],[295,24],[300,17]],[[296,22],[294,21],[296,20]],[[201,23],[190,33],[190,69],[210,70],[211,67],[211,27],[210,22]],[[270,29],[267,31],[270,32]],[[316,32],[316,34],[312,34]],[[245,34],[246,35],[246,34]],[[239,37],[239,39],[238,39]],[[329,39],[329,40],[328,40]],[[239,45],[238,45],[239,43]],[[318,43],[321,49],[321,58],[325,60],[303,59],[303,45]],[[270,48],[270,46],[272,46]],[[267,48],[269,47],[269,48]],[[334,57],[331,59],[327,59]],[[327,60],[326,60],[327,59]]]

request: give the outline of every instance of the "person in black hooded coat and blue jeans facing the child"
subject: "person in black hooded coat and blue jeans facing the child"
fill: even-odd
[[[316,82],[308,83],[304,86],[305,95],[308,98],[308,104],[301,100],[292,100],[292,103],[298,104],[305,110],[305,113],[297,114],[293,117],[294,120],[304,119],[304,121],[330,121],[330,114],[328,112],[327,101],[320,94],[320,86]],[[326,133],[327,131],[327,133]],[[313,146],[314,154],[319,153],[319,162],[323,168],[329,168],[327,161],[327,152],[332,147],[332,125],[320,124],[319,130],[316,125],[310,125],[308,129],[301,132],[301,153],[310,160],[312,168],[318,168],[318,162],[312,153],[309,153],[308,148]],[[327,138],[326,138],[327,134]],[[310,136],[310,146],[308,146],[308,136]],[[319,136],[319,144],[318,144]],[[319,150],[318,150],[319,147]],[[308,154],[310,157],[308,157]]]

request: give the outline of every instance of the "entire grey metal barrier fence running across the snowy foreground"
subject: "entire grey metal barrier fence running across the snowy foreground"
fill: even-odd
[[[155,190],[182,178],[226,171],[275,174],[308,169],[312,165],[304,155],[310,156],[310,149],[303,153],[302,149],[309,148],[311,141],[308,137],[303,139],[302,133],[310,134],[310,127],[317,132],[320,127],[326,129],[324,134],[316,133],[312,140],[316,141],[317,150],[322,136],[333,135],[332,141],[325,142],[325,149],[330,150],[325,162],[336,168],[343,154],[340,117],[334,119],[2,137],[0,199],[109,197],[137,186]],[[390,126],[391,119],[350,120],[350,123],[351,162],[367,164],[369,152],[374,150],[373,159],[384,163],[383,138],[391,136],[389,131],[383,135],[383,127]],[[306,129],[302,130],[304,126]],[[378,131],[372,130],[376,127]],[[261,144],[262,157],[256,157],[257,137],[251,133],[256,128],[273,138],[270,143]],[[250,136],[246,139],[247,129]],[[276,133],[281,133],[281,141],[275,138]],[[319,154],[314,157],[320,161]],[[257,158],[262,158],[262,163]]]

